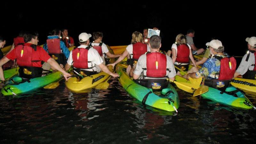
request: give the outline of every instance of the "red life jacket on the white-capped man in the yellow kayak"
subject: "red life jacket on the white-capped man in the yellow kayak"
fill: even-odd
[[[88,51],[90,48],[91,47],[88,46],[86,48],[75,48],[74,50],[72,50],[74,68],[81,68],[81,69],[88,68]],[[79,57],[77,53],[79,53]]]

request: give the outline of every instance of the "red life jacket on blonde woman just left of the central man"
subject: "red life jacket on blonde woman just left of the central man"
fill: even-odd
[[[132,44],[132,59],[138,60],[142,54],[148,51],[148,45],[141,42]]]

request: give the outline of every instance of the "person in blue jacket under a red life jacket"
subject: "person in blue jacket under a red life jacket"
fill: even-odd
[[[47,36],[48,39],[44,44],[44,50],[49,53],[49,55],[57,61],[61,67],[65,66],[67,59],[69,57],[69,50],[63,41],[60,41],[60,36],[58,36],[59,30],[52,30]]]

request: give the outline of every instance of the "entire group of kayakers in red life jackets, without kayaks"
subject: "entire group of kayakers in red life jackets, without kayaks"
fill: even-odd
[[[114,63],[108,64],[113,67],[127,57],[127,64],[129,65],[126,69],[127,74],[146,87],[158,83],[164,88],[168,85],[168,78],[175,80],[176,71],[178,75],[182,76],[178,69],[188,71],[188,74],[182,77],[205,77],[205,84],[215,88],[225,88],[224,85],[228,86],[229,81],[239,75],[248,79],[255,79],[256,77],[256,37],[246,38],[249,52],[244,55],[236,70],[235,58],[227,57],[223,53],[224,46],[217,39],[206,43],[209,49],[205,51],[203,59],[196,62],[193,54],[202,54],[204,49],[196,48],[193,43],[195,31],[192,29],[188,30],[186,36],[178,34],[175,43],[172,44],[171,50],[167,54],[160,52],[160,36],[154,35],[148,38],[146,35],[147,29],[143,30],[143,35],[137,31],[133,32],[131,44],[119,55],[108,51],[106,44],[101,42],[103,38],[101,32],[94,32],[93,37],[91,34],[81,33],[78,36],[80,46],[71,52],[69,52],[68,47],[74,46],[74,39],[68,36],[67,29],[52,30],[43,46],[44,48],[37,45],[39,42],[38,33],[21,32],[18,37],[14,38],[11,51],[6,56],[0,53],[0,78],[2,81],[4,80],[2,66],[9,60],[16,60],[20,68],[19,75],[25,79],[42,76],[42,71],[52,69],[62,72],[65,79],[68,80],[71,75],[67,71],[72,65],[74,74],[78,76],[90,76],[101,70],[113,77],[119,76],[109,71],[105,65],[108,64],[107,57],[119,57]],[[92,43],[90,43],[90,37],[94,40]],[[4,47],[4,44],[5,40],[0,36],[0,46]],[[194,65],[190,70],[188,70],[189,60]],[[43,65],[42,61],[44,61]],[[198,69],[197,65],[200,64],[203,64],[202,68]],[[175,70],[175,67],[178,69]]]

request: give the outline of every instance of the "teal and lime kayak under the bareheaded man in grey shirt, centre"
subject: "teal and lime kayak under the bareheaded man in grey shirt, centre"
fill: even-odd
[[[135,99],[142,102],[142,104],[162,109],[165,111],[176,111],[180,106],[180,100],[175,88],[169,84],[164,88],[160,94],[155,94],[152,89],[141,86],[134,82],[131,77],[126,74],[126,69],[117,65],[116,72],[119,74],[118,78],[124,89]]]

